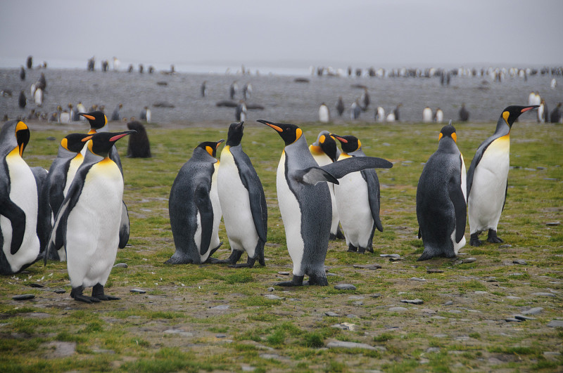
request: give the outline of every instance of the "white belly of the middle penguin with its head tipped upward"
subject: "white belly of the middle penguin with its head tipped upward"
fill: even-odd
[[[248,190],[241,182],[232,153],[226,148],[221,152],[217,187],[231,250],[246,251],[249,257],[254,257],[258,233],[252,218]]]

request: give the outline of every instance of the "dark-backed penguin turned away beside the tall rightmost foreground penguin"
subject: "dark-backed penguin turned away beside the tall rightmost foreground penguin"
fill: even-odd
[[[454,258],[465,246],[465,164],[457,149],[452,121],[438,136],[438,150],[424,164],[417,186],[418,237],[424,251],[419,261]]]

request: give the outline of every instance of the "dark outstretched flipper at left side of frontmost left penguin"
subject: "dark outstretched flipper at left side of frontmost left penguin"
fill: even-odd
[[[44,261],[46,263],[49,259],[49,253],[58,250],[65,245],[66,237],[66,225],[68,221],[68,215],[70,211],[76,206],[80,195],[82,194],[82,188],[84,187],[84,179],[95,163],[82,164],[80,168],[76,171],[75,178],[68,188],[66,197],[61,204],[61,208],[58,210],[57,216],[55,218],[55,223],[51,230],[51,236],[49,237],[49,242],[47,242],[47,247],[45,251]],[[66,249],[66,248],[65,248]]]

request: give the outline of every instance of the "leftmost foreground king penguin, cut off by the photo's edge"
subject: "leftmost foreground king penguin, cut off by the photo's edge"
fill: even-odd
[[[24,122],[0,131],[0,274],[17,273],[39,259],[37,183],[22,155],[30,140]]]

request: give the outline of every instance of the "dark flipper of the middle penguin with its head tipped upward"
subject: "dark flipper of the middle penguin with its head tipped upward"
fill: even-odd
[[[243,155],[248,157],[243,152],[239,156]],[[241,182],[244,188],[248,190],[248,199],[251,204],[252,220],[254,221],[256,233],[258,233],[258,237],[262,242],[266,242],[268,222],[266,196],[256,172],[251,172],[250,167],[245,168],[248,164],[251,164],[250,159],[248,159],[248,162],[237,163],[236,166],[239,167]]]

